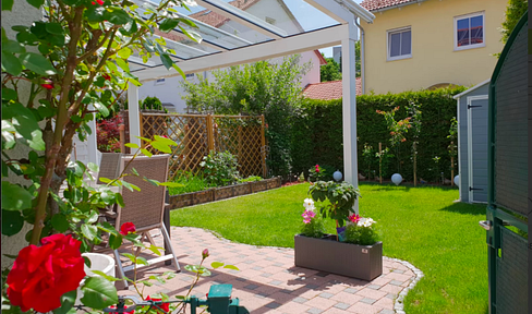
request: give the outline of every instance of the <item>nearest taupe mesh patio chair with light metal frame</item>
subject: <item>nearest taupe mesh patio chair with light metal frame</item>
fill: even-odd
[[[169,254],[148,259],[148,265],[137,265],[137,269],[144,266],[150,266],[155,263],[173,259],[173,266],[180,271],[181,269],[179,267],[178,258],[173,253],[170,237],[162,221],[162,216],[165,214],[166,186],[155,186],[143,180],[143,177],[146,177],[159,182],[167,181],[170,155],[156,155],[149,158],[146,156],[138,156],[133,160],[132,158],[132,156],[123,156],[121,158],[121,169],[126,169],[125,173],[131,174],[125,176],[123,180],[128,183],[135,184],[141,191],[131,192],[128,189],[121,189],[125,207],[118,207],[116,226],[117,228],[120,228],[124,222],[133,222],[136,227],[136,232],[142,234],[142,239],[147,238],[152,243],[154,242],[149,235],[149,231],[154,229],[160,230],[168,251],[170,251],[167,252]],[[140,177],[133,176],[133,172],[131,171],[132,168],[135,168]],[[117,261],[119,275],[123,279],[125,278],[124,273],[132,270],[134,265],[123,267],[120,262],[118,250],[114,250],[114,258]],[[128,288],[128,281],[125,279],[123,280],[123,283],[125,288]]]

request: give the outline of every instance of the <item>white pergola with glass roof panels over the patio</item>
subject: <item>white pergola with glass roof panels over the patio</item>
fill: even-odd
[[[158,5],[158,0],[133,0]],[[355,60],[358,39],[355,20],[372,23],[375,16],[352,0],[196,0],[191,11],[177,9],[197,27],[183,26],[201,37],[196,43],[180,28],[156,33],[173,49],[170,58],[185,74],[274,59],[341,45],[342,52],[342,135],[344,180],[358,186]],[[181,75],[167,70],[160,59],[142,62],[129,58],[132,74],[141,83]],[[129,84],[128,101],[138,102],[138,87]],[[140,112],[130,107],[130,142],[141,145]],[[358,213],[358,203],[353,208]]]

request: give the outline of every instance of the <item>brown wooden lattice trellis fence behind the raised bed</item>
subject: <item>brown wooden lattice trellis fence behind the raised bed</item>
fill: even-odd
[[[178,143],[172,147],[169,180],[185,172],[198,172],[202,169],[200,162],[210,150],[227,150],[237,156],[242,177],[266,178],[264,116],[141,112],[141,125],[142,137],[166,135]],[[154,148],[148,149],[160,154]]]

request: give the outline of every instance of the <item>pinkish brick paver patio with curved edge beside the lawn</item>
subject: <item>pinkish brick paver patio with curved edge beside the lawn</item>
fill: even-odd
[[[146,287],[145,295],[185,294],[194,274],[184,270],[184,266],[198,264],[204,249],[210,253],[205,265],[208,268],[213,262],[223,262],[240,270],[213,270],[213,276],[200,280],[193,294],[205,298],[211,285],[231,283],[232,297],[239,298],[251,313],[396,313],[395,310],[403,313],[402,303],[395,300],[399,294],[402,300],[407,287],[423,276],[408,263],[384,257],[383,275],[370,282],[295,267],[292,249],[233,243],[197,228],[172,227],[171,238],[182,271],[164,285],[153,280],[155,285]],[[162,237],[155,239],[162,241]],[[145,278],[173,269],[162,265],[138,271],[138,276]],[[132,273],[128,275],[132,277]],[[131,294],[131,288],[119,293]]]

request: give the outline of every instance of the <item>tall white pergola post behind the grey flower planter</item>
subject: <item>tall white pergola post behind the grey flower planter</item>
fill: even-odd
[[[356,166],[356,69],[354,67],[354,43],[356,26],[354,16],[349,22],[349,36],[341,40],[342,72],[342,134],[343,134],[343,172],[344,180],[359,188],[359,169]],[[359,202],[353,206],[359,214]]]

